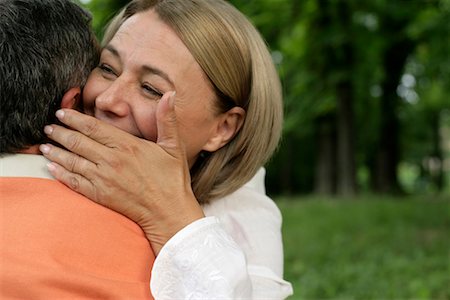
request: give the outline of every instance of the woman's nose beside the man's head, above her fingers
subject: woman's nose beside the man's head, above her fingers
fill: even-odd
[[[117,79],[97,96],[95,107],[107,114],[125,117],[130,111],[126,94],[126,85]]]

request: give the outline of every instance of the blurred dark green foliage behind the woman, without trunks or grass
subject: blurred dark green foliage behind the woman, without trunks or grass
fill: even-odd
[[[106,22],[127,2],[91,0],[86,4],[99,37]],[[381,103],[385,98],[395,101],[400,163],[420,170],[416,180],[434,186],[426,190],[442,190],[439,182],[450,181],[448,175],[441,180],[423,167],[430,159],[450,159],[449,146],[444,148],[448,135],[436,138],[437,131],[450,128],[450,0],[230,2],[262,33],[283,84],[284,136],[268,165],[269,192],[314,190],[318,133],[323,120],[328,120],[330,131],[336,131],[337,86],[343,81],[352,89],[356,169],[365,170],[368,177],[359,186],[371,189],[374,153],[383,140],[380,128],[387,112]],[[386,51],[402,45],[399,41],[408,51],[393,53],[409,53],[403,68],[407,80],[392,78],[389,84],[394,89],[387,95],[383,83],[392,75],[392,64],[386,63]],[[352,59],[346,63],[349,51]]]

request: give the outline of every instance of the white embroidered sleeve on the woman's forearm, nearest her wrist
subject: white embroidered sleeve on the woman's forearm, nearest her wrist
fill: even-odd
[[[162,299],[248,299],[245,257],[217,218],[186,226],[161,249],[150,288]]]

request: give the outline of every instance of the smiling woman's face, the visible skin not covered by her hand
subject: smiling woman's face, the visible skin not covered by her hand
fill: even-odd
[[[179,132],[189,164],[208,144],[220,115],[202,69],[178,36],[150,10],[120,27],[102,51],[83,92],[87,114],[138,137],[156,141],[156,107],[176,91]]]

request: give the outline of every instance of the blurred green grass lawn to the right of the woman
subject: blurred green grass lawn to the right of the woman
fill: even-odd
[[[277,203],[285,277],[294,287],[289,299],[450,299],[448,200]]]

